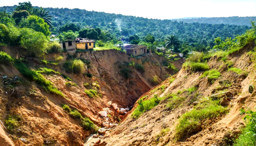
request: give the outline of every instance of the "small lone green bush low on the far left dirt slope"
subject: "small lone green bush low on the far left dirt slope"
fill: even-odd
[[[20,120],[21,117],[19,115],[8,115],[5,121],[7,129],[12,132],[15,128],[18,128],[20,126]]]

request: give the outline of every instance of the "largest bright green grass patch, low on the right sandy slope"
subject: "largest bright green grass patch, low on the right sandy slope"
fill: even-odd
[[[227,113],[228,109],[219,104],[219,100],[202,98],[200,103],[191,111],[183,114],[179,118],[178,126],[176,127],[177,140],[182,139],[184,135],[190,135],[200,130],[200,126],[204,120],[208,118],[216,118]]]

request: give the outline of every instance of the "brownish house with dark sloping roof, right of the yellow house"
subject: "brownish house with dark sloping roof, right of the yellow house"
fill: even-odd
[[[147,53],[147,46],[137,44],[127,44],[124,46],[127,55],[138,56]]]

